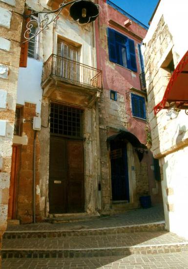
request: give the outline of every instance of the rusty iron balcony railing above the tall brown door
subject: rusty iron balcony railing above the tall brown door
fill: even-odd
[[[67,58],[52,54],[44,63],[42,81],[56,76],[73,84],[102,89],[102,71]]]

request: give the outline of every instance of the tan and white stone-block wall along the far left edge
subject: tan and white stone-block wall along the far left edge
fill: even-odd
[[[7,224],[24,3],[0,0],[0,248]]]

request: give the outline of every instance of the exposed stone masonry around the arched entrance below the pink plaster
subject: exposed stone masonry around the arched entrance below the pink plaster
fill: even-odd
[[[127,101],[128,100],[128,101]],[[131,124],[135,125],[130,111],[130,98],[117,93],[117,101],[110,99],[110,91],[104,90],[103,98],[99,103],[99,128],[100,128],[100,150],[101,150],[101,183],[102,183],[102,212],[104,214],[115,213],[119,210],[118,206],[115,209],[112,204],[111,192],[111,171],[110,171],[110,149],[107,146],[106,139],[112,134],[116,134],[120,130],[133,132]],[[137,123],[137,125],[139,122]],[[139,134],[145,134],[144,128]],[[135,134],[136,135],[136,134]],[[146,135],[146,134],[145,134]],[[145,136],[142,136],[145,141]],[[127,157],[128,157],[128,176],[129,176],[129,190],[130,190],[130,203],[124,207],[126,209],[139,206],[139,197],[142,195],[150,194],[153,196],[152,189],[149,185],[155,186],[155,179],[150,165],[150,153],[144,154],[143,160],[140,162],[137,153],[134,152],[130,143],[127,144]],[[152,163],[152,160],[151,160]],[[154,183],[153,183],[154,182]],[[158,194],[158,190],[155,190]],[[154,203],[162,202],[162,197],[156,200],[152,198]],[[125,209],[124,208],[124,209]]]

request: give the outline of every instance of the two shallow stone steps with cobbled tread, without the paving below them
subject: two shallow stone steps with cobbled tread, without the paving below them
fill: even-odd
[[[55,224],[52,224],[55,225]],[[104,228],[12,230],[2,242],[2,258],[83,258],[188,251],[188,242],[165,231],[165,223]]]

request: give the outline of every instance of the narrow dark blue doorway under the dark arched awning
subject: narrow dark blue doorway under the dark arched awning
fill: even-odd
[[[110,141],[111,187],[113,202],[129,202],[126,143]]]

